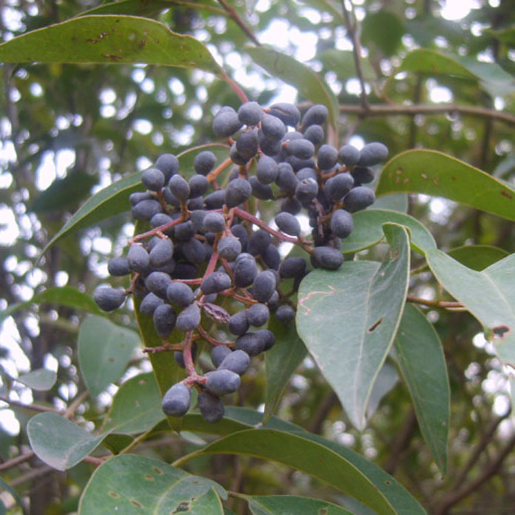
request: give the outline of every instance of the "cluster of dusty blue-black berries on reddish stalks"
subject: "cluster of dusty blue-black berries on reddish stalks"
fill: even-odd
[[[220,420],[221,397],[237,391],[251,357],[275,343],[273,332],[263,328],[271,310],[280,323],[295,318],[290,296],[310,267],[301,257],[282,260],[278,244],[297,244],[315,268],[341,266],[339,244],[352,231],[352,213],[375,200],[363,186],[374,179],[369,167],[384,160],[388,150],[377,142],[362,150],[323,144],[327,117],[328,109],[319,104],[302,118],[293,104],[262,108],[246,102],[237,112],[226,106],[213,122],[215,135],[231,146],[225,161],[216,166],[212,152],[198,152],[195,174],[185,179],[179,160],[165,154],[142,173],[147,191],[130,196],[131,212],[152,229],[130,240],[126,257],[108,264],[113,276],[133,274],[130,288],[98,288],[94,299],[111,311],[129,293],[141,297],[141,314],[153,317],[163,340],[148,351],[173,351],[187,371],[163,397],[168,415],[184,415],[196,387],[205,420]],[[221,187],[218,179],[231,165]],[[255,216],[257,201],[280,201],[274,218],[279,231]],[[310,237],[301,233],[297,218],[303,208]],[[284,279],[293,279],[288,293],[279,288]],[[205,330],[207,319],[225,325],[228,341]],[[180,343],[168,341],[174,330],[181,332]],[[214,370],[202,375],[194,364],[197,341],[212,345]]]

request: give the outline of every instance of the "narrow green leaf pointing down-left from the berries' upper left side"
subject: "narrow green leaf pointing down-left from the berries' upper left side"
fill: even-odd
[[[89,227],[110,216],[128,211],[130,208],[128,196],[131,193],[142,192],[144,190],[145,187],[141,183],[141,172],[130,174],[104,187],[103,190],[100,190],[100,192],[88,198],[88,200],[77,209],[73,216],[62,226],[60,231],[56,233],[54,238],[45,245],[45,248],[41,251],[41,255],[67,234],[76,232],[84,227]]]

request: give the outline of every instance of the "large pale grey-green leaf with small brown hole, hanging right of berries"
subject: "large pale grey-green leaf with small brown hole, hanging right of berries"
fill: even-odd
[[[381,265],[345,262],[301,282],[297,330],[356,428],[365,428],[371,389],[393,343],[409,279],[407,229],[385,224],[391,249]]]

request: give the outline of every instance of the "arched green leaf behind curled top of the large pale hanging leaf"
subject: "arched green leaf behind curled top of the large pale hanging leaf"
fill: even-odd
[[[343,253],[361,251],[384,240],[382,224],[386,222],[409,228],[413,250],[423,254],[428,249],[436,249],[433,235],[413,216],[387,209],[364,209],[354,213],[353,218],[354,229],[341,242]]]

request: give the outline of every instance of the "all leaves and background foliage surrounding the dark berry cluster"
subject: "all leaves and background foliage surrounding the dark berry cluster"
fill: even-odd
[[[0,512],[509,512],[510,3],[482,1],[459,23],[422,0],[12,4],[0,7]],[[108,315],[92,300],[145,230],[128,196],[165,152],[187,177],[201,150],[224,161],[220,106],[286,95],[303,112],[327,106],[336,148],[388,146],[377,201],[354,214],[341,268],[302,280],[295,323],[271,317],[277,343],[222,420],[166,417],[184,371],[152,352],[152,319],[137,298]],[[252,207],[266,226],[275,216]]]

